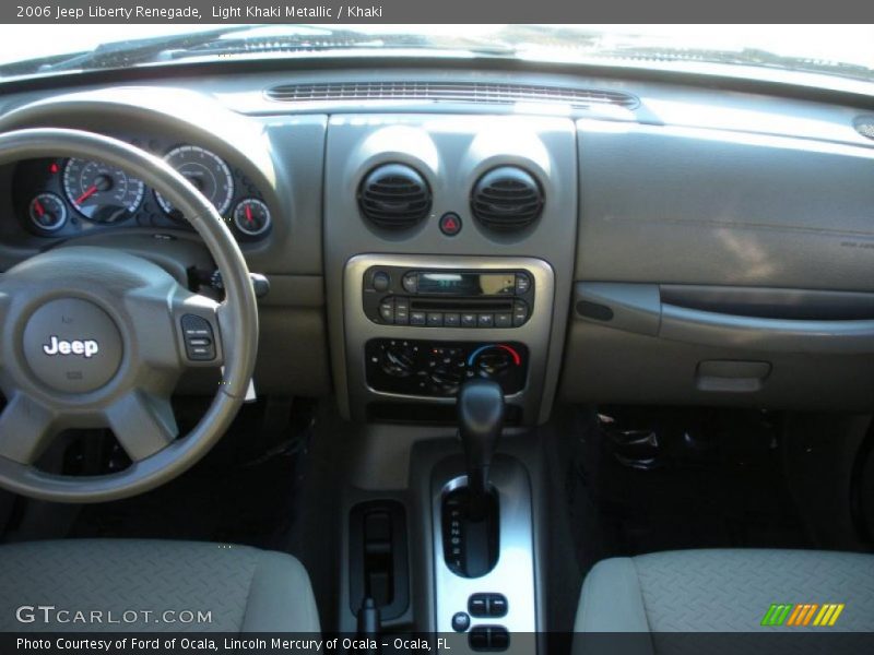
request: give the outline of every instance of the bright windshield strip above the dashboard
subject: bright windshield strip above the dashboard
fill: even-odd
[[[874,83],[872,25],[19,25],[0,40],[0,79],[352,50]]]

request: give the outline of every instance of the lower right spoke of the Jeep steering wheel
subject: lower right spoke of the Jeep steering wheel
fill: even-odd
[[[134,462],[164,450],[179,433],[169,401],[144,391],[132,391],[116,401],[106,409],[106,419]]]

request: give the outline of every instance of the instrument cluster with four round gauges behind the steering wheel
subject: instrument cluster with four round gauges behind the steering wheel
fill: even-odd
[[[272,217],[260,191],[215,153],[153,139],[129,142],[164,157],[213,204],[238,239],[257,240],[270,233]],[[102,162],[76,157],[21,162],[13,189],[23,225],[40,237],[69,238],[127,226],[191,229],[161,193]]]

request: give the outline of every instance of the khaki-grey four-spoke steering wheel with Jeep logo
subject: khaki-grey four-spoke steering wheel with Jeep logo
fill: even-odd
[[[0,277],[0,486],[60,502],[147,491],[200,460],[244,402],[258,349],[258,307],[246,261],[215,207],[160,159],[91,132],[0,134],[0,165],[80,157],[117,166],[158,191],[203,239],[225,287],[221,303],[121,251],[64,247]],[[215,397],[178,438],[170,395],[188,367],[223,366]],[[99,476],[35,466],[62,430],[110,428],[131,465]]]

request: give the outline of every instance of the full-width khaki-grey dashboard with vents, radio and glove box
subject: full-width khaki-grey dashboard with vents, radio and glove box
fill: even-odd
[[[262,393],[362,421],[450,420],[472,376],[519,425],[556,401],[872,407],[870,98],[534,67],[139,74],[8,93],[0,129],[116,136],[211,200],[270,282]],[[0,205],[3,270],[198,248],[86,159],[0,168]]]

